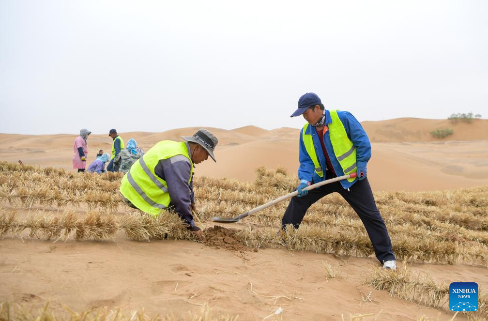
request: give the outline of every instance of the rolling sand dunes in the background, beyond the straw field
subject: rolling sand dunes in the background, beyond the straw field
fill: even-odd
[[[376,190],[429,190],[488,184],[488,120],[452,124],[448,120],[402,118],[365,121],[363,126],[372,141],[368,179]],[[434,139],[429,132],[449,127],[450,140]],[[121,137],[135,138],[148,150],[160,140],[182,140],[200,127],[178,128],[161,133],[127,132]],[[208,128],[218,139],[215,155],[199,164],[197,175],[228,177],[254,181],[254,170],[265,165],[285,167],[289,173],[298,169],[297,128],[266,130],[245,126],[233,130]],[[73,140],[76,135],[0,134],[0,160],[43,166],[71,168]],[[90,135],[89,161],[99,149],[110,152],[107,134]]]

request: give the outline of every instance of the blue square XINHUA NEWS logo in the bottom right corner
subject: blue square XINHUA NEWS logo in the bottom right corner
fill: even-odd
[[[452,282],[449,285],[449,308],[451,311],[477,311],[478,284],[475,282]]]

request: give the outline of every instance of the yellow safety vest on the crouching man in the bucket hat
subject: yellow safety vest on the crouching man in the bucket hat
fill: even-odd
[[[193,162],[188,155],[185,142],[162,140],[137,160],[122,178],[122,195],[137,208],[155,217],[162,209],[169,206],[171,199],[168,184],[154,173],[154,168],[161,160],[180,155],[190,161],[190,185],[193,174]]]

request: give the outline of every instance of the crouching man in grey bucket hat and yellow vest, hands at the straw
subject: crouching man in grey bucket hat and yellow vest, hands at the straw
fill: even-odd
[[[206,129],[182,138],[185,141],[162,140],[149,149],[122,178],[120,191],[127,205],[154,217],[172,207],[187,228],[205,241],[191,213],[196,209],[193,168],[208,156],[215,161],[218,140]]]

